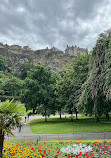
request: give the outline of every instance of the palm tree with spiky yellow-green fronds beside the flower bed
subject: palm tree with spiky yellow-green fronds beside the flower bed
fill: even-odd
[[[0,157],[3,157],[3,142],[5,134],[13,135],[11,129],[20,125],[20,104],[18,102],[0,102]]]

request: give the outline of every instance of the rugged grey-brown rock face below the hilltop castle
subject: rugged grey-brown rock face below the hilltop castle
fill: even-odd
[[[84,54],[87,49],[76,46],[67,46],[65,53],[55,47],[49,49],[31,50],[28,46],[3,45],[0,43],[0,55],[7,57],[9,60],[9,69],[13,72],[19,70],[19,66],[26,63],[29,59],[35,65],[42,64],[48,67],[53,73],[60,73],[64,68],[71,68],[73,58],[77,58],[77,53]]]

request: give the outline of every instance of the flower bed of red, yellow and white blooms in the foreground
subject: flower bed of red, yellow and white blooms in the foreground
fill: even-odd
[[[111,141],[86,144],[75,141],[5,141],[3,154],[5,158],[111,158]]]

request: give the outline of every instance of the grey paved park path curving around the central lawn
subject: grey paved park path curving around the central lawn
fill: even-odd
[[[66,117],[69,117],[67,115]],[[59,115],[51,116],[51,117],[59,117]],[[64,115],[62,116],[64,117]],[[29,120],[26,120],[25,117],[22,117],[23,127],[21,132],[16,128],[12,130],[15,137],[6,136],[6,140],[86,140],[86,139],[111,139],[111,131],[110,132],[92,132],[92,133],[77,133],[77,134],[34,134],[30,129],[30,121],[38,118],[43,118],[42,116],[30,116]]]

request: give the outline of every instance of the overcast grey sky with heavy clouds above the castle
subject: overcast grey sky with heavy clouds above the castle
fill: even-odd
[[[111,28],[111,0],[0,0],[0,41],[32,49],[92,49]]]

